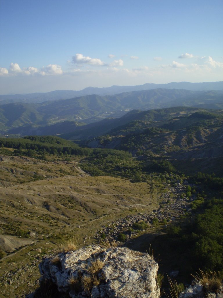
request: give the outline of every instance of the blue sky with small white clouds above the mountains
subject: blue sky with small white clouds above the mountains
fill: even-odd
[[[222,0],[0,0],[0,94],[223,80]]]

